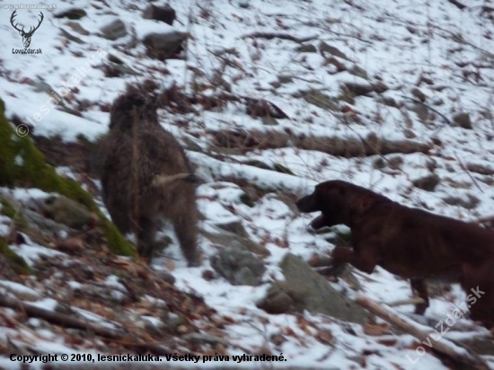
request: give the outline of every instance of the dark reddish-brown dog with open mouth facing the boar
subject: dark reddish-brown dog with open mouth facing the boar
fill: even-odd
[[[368,274],[375,266],[410,278],[428,307],[426,278],[461,283],[473,320],[494,324],[494,232],[478,225],[401,206],[346,181],[325,181],[296,202],[301,212],[321,211],[314,229],[348,225],[353,249],[336,247],[333,268],[349,262]],[[478,286],[478,290],[477,290]],[[473,289],[473,290],[472,290]],[[479,293],[481,292],[481,293]]]

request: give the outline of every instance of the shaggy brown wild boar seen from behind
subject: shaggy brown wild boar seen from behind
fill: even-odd
[[[128,86],[113,102],[102,145],[103,201],[122,233],[137,233],[137,250],[150,259],[155,235],[171,220],[189,266],[198,266],[198,178],[181,145],[164,130],[156,97]]]

